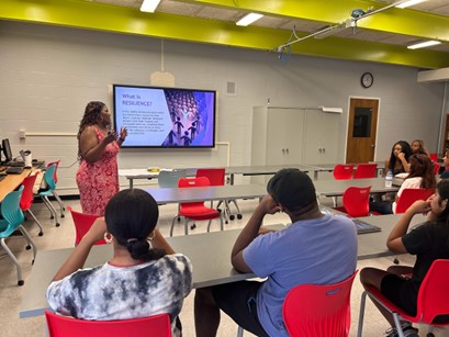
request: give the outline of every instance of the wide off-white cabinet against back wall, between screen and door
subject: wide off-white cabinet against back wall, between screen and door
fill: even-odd
[[[337,164],[341,114],[255,106],[251,165]]]

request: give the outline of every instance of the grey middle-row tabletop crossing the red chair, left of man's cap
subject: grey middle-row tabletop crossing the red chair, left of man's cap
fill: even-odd
[[[267,194],[267,189],[259,184],[225,184],[199,188],[146,189],[158,204],[195,201],[220,201],[229,199],[255,199]]]

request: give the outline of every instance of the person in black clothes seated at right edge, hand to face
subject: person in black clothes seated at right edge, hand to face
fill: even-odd
[[[427,201],[418,200],[402,215],[386,241],[390,250],[416,255],[415,266],[400,268],[390,267],[386,271],[377,268],[363,268],[360,271],[360,282],[379,289],[390,301],[403,308],[409,315],[416,315],[417,294],[430,265],[436,259],[449,259],[449,180],[444,179],[437,184],[437,192]],[[415,214],[427,214],[427,221],[407,234],[408,226]],[[413,272],[412,279],[402,274]],[[379,306],[380,312],[394,327],[393,316]],[[403,323],[405,336],[417,336],[409,322]],[[397,336],[394,328],[388,336]]]

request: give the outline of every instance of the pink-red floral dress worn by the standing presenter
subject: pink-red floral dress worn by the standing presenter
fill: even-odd
[[[97,138],[102,142],[104,135],[93,126]],[[104,215],[109,200],[119,192],[119,172],[116,142],[108,144],[101,158],[96,162],[81,160],[77,172],[77,184],[82,213]]]

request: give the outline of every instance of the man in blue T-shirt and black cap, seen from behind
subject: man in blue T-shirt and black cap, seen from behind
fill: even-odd
[[[257,336],[289,336],[282,318],[287,293],[298,284],[340,282],[356,269],[356,226],[346,216],[322,214],[306,173],[282,169],[267,190],[232,251],[236,270],[267,280],[198,289],[198,337],[216,335],[220,310]],[[277,212],[285,212],[292,224],[279,232],[261,228],[263,217]]]

